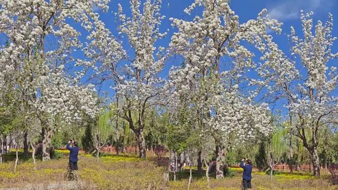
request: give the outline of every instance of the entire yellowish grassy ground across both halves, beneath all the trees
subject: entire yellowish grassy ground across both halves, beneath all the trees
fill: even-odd
[[[58,159],[42,162],[37,161],[36,169],[29,156],[20,152],[16,173],[13,172],[15,152],[6,154],[5,162],[0,165],[0,190],[6,188],[24,188],[29,190],[48,189],[48,184],[59,185],[57,190],[186,190],[189,179],[188,167],[179,172],[176,182],[170,174],[167,184],[164,173],[167,172],[166,159],[139,159],[132,155],[103,155],[99,161],[89,154],[79,156],[78,182],[64,180],[68,163],[67,150],[57,150]],[[198,173],[193,168],[193,178],[190,190],[240,190],[241,168],[230,168],[232,177],[216,180],[211,177],[208,184],[205,171]],[[49,186],[50,189],[50,186]],[[263,172],[253,172],[253,190],[338,190],[338,186],[331,185],[330,176],[320,178],[310,175],[278,174],[270,180]]]

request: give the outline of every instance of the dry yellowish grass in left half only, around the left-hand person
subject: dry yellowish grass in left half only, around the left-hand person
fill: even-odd
[[[62,152],[63,153],[63,152]],[[13,172],[13,162],[0,165],[0,188],[23,188],[28,184],[62,184],[68,156],[51,161],[19,162]],[[151,160],[135,156],[106,155],[96,162],[91,155],[79,156],[79,190],[162,190],[165,188],[163,167]]]

